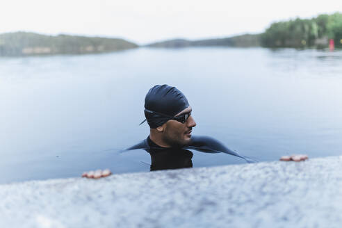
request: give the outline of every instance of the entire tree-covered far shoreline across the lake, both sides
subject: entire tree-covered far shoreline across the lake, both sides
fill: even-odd
[[[318,15],[312,19],[275,22],[264,33],[205,40],[172,39],[138,45],[119,38],[38,33],[0,34],[0,56],[51,56],[99,54],[137,47],[267,47],[296,49],[342,48],[342,14]]]

